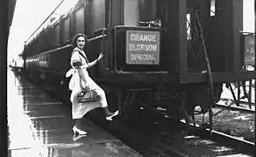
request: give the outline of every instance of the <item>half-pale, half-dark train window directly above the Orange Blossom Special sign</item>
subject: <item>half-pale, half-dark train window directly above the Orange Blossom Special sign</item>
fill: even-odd
[[[157,16],[157,0],[124,0],[124,25],[154,21]]]

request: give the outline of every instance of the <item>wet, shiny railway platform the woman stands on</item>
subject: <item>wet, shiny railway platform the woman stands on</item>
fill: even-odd
[[[141,156],[89,119],[82,119],[88,134],[75,136],[71,106],[10,70],[7,77],[8,157]]]

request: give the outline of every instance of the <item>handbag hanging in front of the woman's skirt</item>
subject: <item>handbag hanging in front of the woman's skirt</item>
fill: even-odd
[[[86,102],[96,102],[99,99],[99,95],[93,89],[90,89],[88,86],[82,88],[82,92],[77,95],[78,103],[86,103]]]

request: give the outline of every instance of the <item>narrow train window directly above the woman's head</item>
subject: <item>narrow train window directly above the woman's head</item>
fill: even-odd
[[[75,34],[84,33],[84,9],[81,8],[75,12]]]

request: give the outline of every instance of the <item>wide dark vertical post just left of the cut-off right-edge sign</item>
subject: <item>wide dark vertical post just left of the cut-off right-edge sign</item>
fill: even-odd
[[[239,72],[239,31],[243,30],[243,0],[217,0],[217,18],[224,33],[225,71]]]

